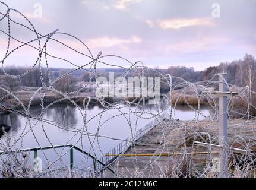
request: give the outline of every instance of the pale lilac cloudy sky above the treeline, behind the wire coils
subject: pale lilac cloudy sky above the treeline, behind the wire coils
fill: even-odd
[[[40,34],[58,29],[78,37],[91,50],[94,58],[117,55],[132,63],[168,68],[194,67],[196,71],[220,62],[242,59],[245,53],[256,56],[255,0],[0,0],[22,12]],[[6,7],[0,4],[0,12]],[[2,15],[0,15],[0,18]],[[10,12],[10,18],[31,27],[21,15]],[[0,29],[8,33],[8,22]],[[11,22],[11,36],[23,42],[36,38],[31,31]],[[64,34],[53,39],[90,55],[78,40]],[[0,59],[7,49],[7,35],[0,31]],[[42,46],[44,40],[42,40]],[[11,40],[10,50],[20,45]],[[31,45],[39,47],[38,42]],[[76,65],[91,59],[50,40],[47,52]],[[28,46],[14,51],[4,66],[30,66],[38,52]],[[127,67],[119,58],[102,58],[109,64]],[[46,61],[42,60],[42,65]],[[65,61],[48,57],[50,67],[74,68]],[[97,67],[108,67],[98,63]]]

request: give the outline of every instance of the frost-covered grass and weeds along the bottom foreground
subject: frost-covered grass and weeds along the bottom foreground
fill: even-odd
[[[189,143],[190,139],[195,135],[188,135],[186,138]],[[198,141],[207,141],[207,136],[202,135]],[[10,134],[4,134],[0,141],[0,151],[7,152],[16,142],[15,138]],[[188,143],[188,142],[186,142]],[[252,148],[255,150],[255,144],[250,142],[237,142],[232,144],[236,148]],[[33,162],[29,153],[18,151],[21,147],[12,147],[11,152],[5,156],[0,156],[0,176],[2,178],[148,178],[143,172],[143,168],[135,168],[134,172],[124,173],[118,172],[117,175],[112,175],[106,170],[102,173],[94,172],[87,168],[86,171],[76,168],[70,170],[69,167],[57,168],[48,172],[35,172]],[[249,150],[249,149],[248,149]],[[187,150],[190,151],[190,150]],[[159,170],[155,171],[151,178],[217,178],[218,172],[214,171],[211,166],[211,159],[200,159],[192,154],[185,154],[184,149],[180,150],[179,155],[173,155],[167,158],[165,166],[158,166]],[[255,153],[255,152],[254,152]],[[210,154],[210,151],[209,151]],[[255,158],[254,154],[247,156],[233,155],[229,153],[229,178],[255,178]],[[139,158],[138,158],[139,159]],[[135,166],[134,166],[135,167]],[[117,164],[115,170],[120,170]]]

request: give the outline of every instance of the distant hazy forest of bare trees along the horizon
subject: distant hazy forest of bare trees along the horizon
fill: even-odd
[[[20,75],[29,71],[30,68],[24,67],[5,67],[4,71],[9,75]],[[73,69],[67,68],[50,68],[52,80],[55,80],[62,74],[72,71]],[[255,76],[256,76],[256,60],[255,57],[252,55],[246,54],[244,58],[235,60],[232,62],[222,62],[219,66],[210,66],[204,71],[194,71],[194,68],[187,68],[185,66],[170,66],[167,69],[156,69],[161,74],[170,74],[175,77],[181,77],[184,80],[189,82],[196,82],[196,81],[203,81],[203,80],[210,80],[214,74],[219,72],[227,72],[228,74],[228,83],[237,85],[237,86],[246,86],[248,85],[252,91],[256,91],[256,83],[254,83]],[[8,75],[4,74],[4,71],[0,71],[0,85],[1,87],[7,90],[14,90],[16,87],[26,86],[26,87],[37,87],[42,86],[42,82],[40,80],[40,72],[39,67],[35,67],[31,69],[26,75],[23,75],[19,78],[12,78]],[[68,83],[71,88],[75,86],[78,81],[89,81],[90,78],[92,81],[95,81],[93,77],[92,69],[80,69],[72,73],[72,75],[68,75],[67,77],[62,78],[62,83]],[[115,72],[115,77],[118,75],[122,75],[125,72],[125,69],[122,68],[100,68],[97,69],[102,75],[108,77],[109,72]],[[157,76],[157,72],[147,71],[148,76]],[[42,77],[46,84],[49,83],[47,77],[47,70],[46,68],[42,68]],[[135,75],[134,72],[129,72],[127,76]],[[175,82],[175,81],[174,81]],[[58,81],[58,83],[60,83]],[[58,87],[58,83],[56,86]],[[74,89],[67,89],[64,91],[70,91]]]

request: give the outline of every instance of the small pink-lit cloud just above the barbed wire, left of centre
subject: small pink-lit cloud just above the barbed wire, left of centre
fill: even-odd
[[[90,47],[112,47],[121,46],[128,43],[141,43],[140,37],[132,36],[129,39],[121,39],[117,37],[99,37],[94,39],[89,39],[87,42]]]

